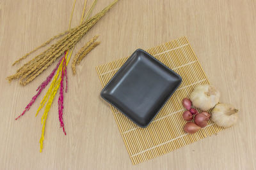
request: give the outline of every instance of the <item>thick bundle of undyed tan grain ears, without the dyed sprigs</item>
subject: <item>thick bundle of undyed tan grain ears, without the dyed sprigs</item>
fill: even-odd
[[[26,85],[33,81],[36,76],[41,74],[45,69],[47,69],[47,67],[51,66],[52,62],[58,59],[61,54],[76,45],[84,34],[86,34],[86,32],[88,32],[117,1],[118,0],[113,1],[113,3],[109,4],[109,6],[97,13],[94,17],[86,20],[76,28],[71,29],[57,43],[37,55],[33,60],[24,64],[24,66],[17,70],[17,73],[12,76],[8,76],[7,79],[12,81],[20,78],[20,84],[22,85]]]

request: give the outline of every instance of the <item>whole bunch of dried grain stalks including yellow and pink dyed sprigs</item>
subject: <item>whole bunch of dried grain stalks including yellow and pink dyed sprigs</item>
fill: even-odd
[[[8,80],[12,81],[14,79],[20,79],[20,84],[26,85],[32,80],[36,78],[40,73],[42,73],[47,67],[51,66],[51,64],[58,59],[60,56],[60,60],[58,61],[56,67],[52,70],[51,74],[47,76],[46,80],[41,83],[41,85],[38,86],[36,89],[37,93],[35,96],[32,97],[29,104],[26,106],[24,111],[19,115],[20,118],[22,115],[26,113],[26,111],[31,108],[33,103],[35,103],[38,96],[40,96],[42,90],[45,89],[45,87],[51,82],[51,85],[49,89],[47,90],[45,96],[43,97],[42,101],[40,102],[40,105],[38,107],[38,110],[36,111],[36,116],[42,110],[42,108],[45,107],[44,113],[41,118],[42,122],[42,134],[40,138],[40,152],[42,152],[43,144],[44,144],[44,134],[45,134],[45,124],[47,120],[47,116],[49,113],[49,110],[51,109],[52,102],[54,100],[54,97],[56,96],[58,90],[60,89],[60,94],[58,97],[58,115],[59,115],[59,121],[60,121],[60,127],[63,129],[64,134],[66,135],[64,121],[63,121],[63,109],[64,109],[64,89],[67,93],[68,88],[68,77],[67,77],[67,65],[70,61],[70,58],[72,56],[72,52],[74,50],[74,46],[76,43],[88,32],[93,25],[95,25],[100,18],[102,18],[106,12],[117,2],[118,0],[113,1],[111,4],[109,4],[106,8],[104,8],[102,11],[97,13],[95,16],[93,16],[90,19],[87,19],[90,17],[92,10],[97,3],[97,0],[93,1],[92,6],[90,6],[90,9],[84,15],[87,0],[84,0],[84,7],[83,7],[83,13],[81,15],[80,25],[77,27],[70,29],[70,25],[72,22],[72,16],[74,13],[74,8],[76,5],[76,0],[74,0],[72,11],[70,15],[70,22],[68,25],[68,31],[62,32],[42,45],[36,47],[34,50],[32,50],[29,53],[26,53],[26,55],[22,56],[20,59],[16,60],[13,65],[17,64],[23,59],[26,59],[31,53],[35,52],[39,48],[48,45],[51,43],[53,39],[57,39],[60,37],[63,37],[57,43],[51,45],[47,50],[40,53],[39,55],[36,55],[32,60],[21,66],[19,69],[17,69],[17,72],[13,74],[12,76],[8,76]],[[88,43],[86,43],[86,47],[83,47],[79,51],[79,55],[76,58],[76,64],[79,64],[81,60],[84,58],[86,54],[88,54],[95,46],[99,45],[99,42],[95,42],[95,40],[98,38],[98,36],[95,36],[93,39],[91,39]],[[65,84],[65,85],[64,85]],[[65,88],[64,88],[65,87]]]

